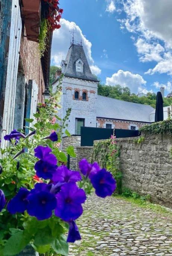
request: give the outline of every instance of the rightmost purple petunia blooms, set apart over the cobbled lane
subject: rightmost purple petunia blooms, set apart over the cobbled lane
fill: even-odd
[[[83,175],[88,177],[95,189],[96,195],[102,198],[111,196],[116,189],[116,181],[106,169],[100,169],[98,163],[90,164],[86,159],[79,162],[79,168]]]

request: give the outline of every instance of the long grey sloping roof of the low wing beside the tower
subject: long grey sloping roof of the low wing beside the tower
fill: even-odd
[[[151,106],[116,100],[109,97],[97,96],[96,116],[101,118],[112,118],[120,120],[130,120],[148,122],[150,113],[154,110]]]

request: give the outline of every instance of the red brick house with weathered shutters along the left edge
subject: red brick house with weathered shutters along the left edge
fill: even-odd
[[[0,137],[23,128],[49,84],[52,33],[44,57],[38,50],[41,0],[1,2],[0,15]],[[2,145],[3,145],[2,141]]]

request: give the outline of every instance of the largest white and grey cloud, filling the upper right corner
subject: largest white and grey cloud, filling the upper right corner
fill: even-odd
[[[146,73],[172,74],[172,0],[123,0],[125,19],[121,28],[138,35],[135,42],[140,61],[156,61]]]

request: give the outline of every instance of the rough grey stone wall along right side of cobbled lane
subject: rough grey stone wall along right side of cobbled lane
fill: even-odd
[[[138,137],[116,139],[121,144],[122,185],[141,195],[149,194],[152,202],[172,207],[172,137],[144,137],[141,144],[135,142]]]

